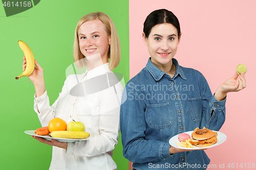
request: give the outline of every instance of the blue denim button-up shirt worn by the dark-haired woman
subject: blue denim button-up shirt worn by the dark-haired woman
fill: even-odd
[[[174,77],[148,59],[127,82],[120,111],[123,155],[135,169],[206,169],[204,151],[169,154],[169,139],[199,127],[219,131],[225,102],[212,95],[206,79],[173,59]]]

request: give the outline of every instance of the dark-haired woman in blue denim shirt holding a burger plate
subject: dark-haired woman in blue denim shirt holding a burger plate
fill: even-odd
[[[226,94],[245,88],[237,73],[214,95],[197,70],[174,58],[181,41],[178,18],[166,9],[153,11],[143,28],[151,56],[125,86],[120,112],[123,155],[134,169],[206,169],[203,150],[185,152],[168,143],[173,136],[199,127],[220,130],[225,121]],[[180,88],[182,86],[182,88]]]

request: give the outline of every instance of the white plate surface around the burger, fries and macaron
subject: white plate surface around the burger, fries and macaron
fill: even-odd
[[[184,132],[184,133],[189,134],[190,137],[191,137],[192,132],[193,131]],[[214,132],[218,133],[218,135],[217,135],[217,142],[215,144],[210,145],[209,147],[200,148],[200,147],[197,147],[195,145],[193,145],[194,148],[181,147],[180,145],[177,144],[177,143],[180,143],[180,141],[178,140],[179,134],[174,136],[174,137],[172,137],[172,138],[170,138],[169,143],[170,143],[170,145],[172,145],[175,148],[180,148],[180,149],[184,149],[184,150],[201,150],[201,149],[205,149],[205,148],[212,148],[212,147],[218,146],[219,144],[223,143],[227,139],[227,136],[224,133],[218,132],[218,131],[214,131]]]

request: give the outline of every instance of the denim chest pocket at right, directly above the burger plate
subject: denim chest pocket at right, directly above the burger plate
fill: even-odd
[[[200,122],[202,118],[201,97],[188,99],[188,105],[189,105],[189,110],[190,110],[192,120],[194,122]]]

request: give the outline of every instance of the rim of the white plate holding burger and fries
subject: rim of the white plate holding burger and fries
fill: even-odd
[[[213,130],[213,131],[214,131],[214,130]],[[187,131],[187,132],[183,132],[183,133],[189,134],[190,137],[191,137],[191,133],[192,133],[192,132],[194,132],[194,131]],[[223,139],[223,141],[221,141],[220,143],[212,144],[212,145],[210,145],[209,147],[202,147],[202,148],[201,148],[201,147],[197,147],[197,146],[195,146],[195,145],[193,145],[194,148],[185,148],[185,147],[181,147],[180,145],[176,144],[176,143],[179,142],[179,141],[178,141],[178,136],[179,136],[179,134],[181,134],[181,133],[179,133],[179,134],[173,136],[172,138],[170,138],[170,139],[169,139],[169,144],[172,145],[172,146],[175,147],[175,148],[184,149],[184,150],[202,150],[202,149],[217,147],[218,145],[220,145],[220,144],[222,144],[223,142],[226,141],[227,135],[225,135],[223,132],[220,132],[220,131],[214,131],[214,132],[217,132],[218,134],[221,134],[222,136],[224,136],[224,139]],[[177,138],[177,142],[175,143],[175,145],[173,145],[173,143],[170,143],[170,141],[171,141],[171,140],[175,140],[175,138]],[[217,141],[218,141],[218,138],[217,138]]]

